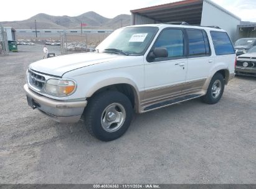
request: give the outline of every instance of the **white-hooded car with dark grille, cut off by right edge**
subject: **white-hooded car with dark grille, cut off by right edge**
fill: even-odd
[[[237,57],[237,65],[235,67],[237,75],[256,76],[256,46]]]

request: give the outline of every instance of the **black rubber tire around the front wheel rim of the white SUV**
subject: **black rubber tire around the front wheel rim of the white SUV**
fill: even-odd
[[[120,128],[117,131],[108,132],[105,131],[106,127],[104,129],[104,124],[102,124],[102,117],[105,117],[103,111],[105,111],[106,108],[109,106],[115,106],[111,104],[118,104],[116,108],[120,106],[125,109],[125,118],[122,119],[123,123],[120,124]],[[112,141],[121,137],[130,126],[131,119],[133,117],[133,107],[130,99],[128,99],[125,94],[118,91],[104,91],[102,93],[95,94],[95,96],[88,100],[88,106],[85,108],[84,117],[85,126],[92,136],[96,137],[100,141]],[[116,124],[116,127],[117,126],[118,124]]]

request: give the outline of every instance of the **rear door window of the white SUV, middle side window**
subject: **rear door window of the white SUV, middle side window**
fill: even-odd
[[[189,56],[209,55],[210,48],[206,33],[202,30],[187,30]]]

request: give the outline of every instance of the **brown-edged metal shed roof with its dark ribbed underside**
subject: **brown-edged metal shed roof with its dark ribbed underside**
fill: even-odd
[[[223,9],[209,0],[185,0],[178,2],[171,2],[168,4],[161,4],[158,6],[145,7],[142,9],[131,10],[131,13],[138,14],[158,22],[187,22],[189,24],[201,24],[202,7],[204,1],[212,6],[220,9],[220,11],[229,14],[236,19],[240,19],[231,12]]]

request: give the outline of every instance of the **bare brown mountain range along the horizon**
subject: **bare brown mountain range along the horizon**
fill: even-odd
[[[24,21],[0,22],[4,27],[14,29],[80,29],[80,23],[87,24],[84,29],[117,29],[121,26],[130,25],[131,16],[120,14],[113,19],[103,17],[96,12],[85,12],[79,16],[51,16],[40,13]]]

